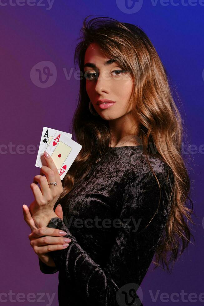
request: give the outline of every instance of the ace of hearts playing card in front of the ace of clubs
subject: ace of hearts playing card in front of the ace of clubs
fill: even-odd
[[[81,148],[79,143],[62,134],[61,131],[56,131],[45,151],[53,159],[61,180],[65,177]]]

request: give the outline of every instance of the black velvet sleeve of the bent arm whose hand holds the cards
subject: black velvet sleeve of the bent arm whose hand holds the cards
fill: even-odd
[[[121,220],[122,226],[116,230],[117,234],[104,267],[90,258],[60,218],[50,220],[48,227],[64,230],[67,232],[66,237],[72,239],[68,248],[53,251],[51,256],[57,269],[64,271],[67,281],[75,284],[79,295],[88,305],[118,305],[116,293],[122,286],[141,284],[153,259],[171,206],[168,205],[172,189],[171,176],[165,185],[161,184],[163,172],[156,175],[161,186],[159,207],[159,187],[150,170],[141,175],[141,178],[138,175],[131,176],[127,182],[116,216]],[[144,229],[146,225],[148,226]]]

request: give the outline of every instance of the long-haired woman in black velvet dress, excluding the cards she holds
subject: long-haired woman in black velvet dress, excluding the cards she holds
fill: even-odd
[[[139,305],[154,254],[169,271],[192,235],[182,121],[146,34],[87,18],[75,50],[83,77],[72,133],[82,149],[62,182],[46,158],[24,219],[41,271],[59,271],[59,305]]]

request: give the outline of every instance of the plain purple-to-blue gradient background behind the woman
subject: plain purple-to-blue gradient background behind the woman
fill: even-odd
[[[191,225],[196,244],[188,249],[175,264],[172,274],[150,266],[141,288],[143,304],[174,305],[164,303],[160,294],[179,294],[178,305],[203,305],[198,300],[192,303],[189,294],[197,296],[203,288],[203,13],[204,1],[180,0],[178,5],[170,2],[145,1],[138,12],[125,8],[125,1],[57,1],[51,9],[48,2],[0,1],[0,60],[1,60],[1,170],[2,170],[2,234],[1,234],[1,293],[12,290],[13,299],[18,293],[36,295],[55,294],[52,305],[58,304],[58,273],[42,274],[38,258],[30,246],[30,228],[23,220],[22,205],[33,201],[30,184],[40,173],[35,167],[36,155],[43,126],[70,132],[70,122],[76,107],[79,80],[74,77],[76,39],[82,22],[87,15],[113,17],[122,22],[136,24],[146,32],[153,42],[170,77],[172,86],[181,99],[179,109],[187,131],[187,142],[193,146],[189,155],[184,155],[192,181],[193,217]],[[203,3],[202,3],[203,2]],[[3,6],[2,4],[6,4]],[[16,3],[16,5],[14,5]],[[30,2],[31,3],[31,2]],[[37,5],[38,3],[38,5]],[[130,1],[129,4],[132,2]],[[185,3],[185,5],[184,5]],[[135,6],[142,4],[136,1]],[[132,12],[132,13],[131,13]],[[94,17],[93,16],[93,17]],[[31,69],[38,62],[50,61],[56,66],[53,78],[56,82],[46,88],[40,84]],[[64,70],[63,70],[64,69]],[[72,72],[67,80],[64,71]],[[35,82],[34,81],[34,82]],[[50,81],[50,80],[49,80]],[[46,84],[45,84],[46,86]],[[13,147],[9,148],[9,145]],[[19,145],[21,147],[19,150]],[[29,151],[29,145],[32,150]],[[188,147],[189,149],[190,147]],[[187,150],[187,149],[185,149]],[[156,303],[151,299],[159,290]],[[186,302],[182,301],[184,290]],[[31,305],[25,302],[11,302],[3,296],[4,305]],[[9,300],[10,299],[10,300]],[[46,296],[41,305],[48,305]],[[69,296],[67,296],[69,300]],[[165,301],[167,299],[165,298]],[[195,300],[195,298],[194,298]],[[40,303],[40,301],[39,301]],[[3,303],[2,303],[3,304]],[[69,305],[69,303],[67,303]]]

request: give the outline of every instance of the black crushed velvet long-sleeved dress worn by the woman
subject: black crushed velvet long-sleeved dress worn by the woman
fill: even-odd
[[[148,159],[161,199],[140,145],[112,148],[56,203],[63,221],[47,226],[72,241],[50,252],[56,268],[39,264],[43,273],[59,271],[60,306],[142,305],[136,290],[163,233],[173,186],[171,168],[156,154]]]

